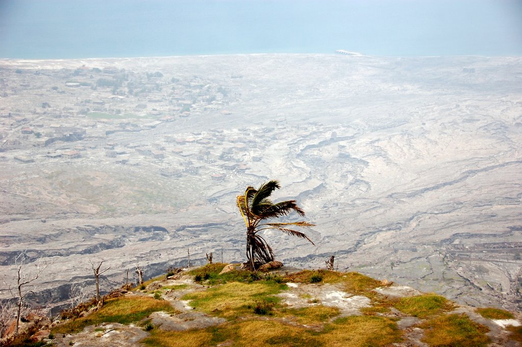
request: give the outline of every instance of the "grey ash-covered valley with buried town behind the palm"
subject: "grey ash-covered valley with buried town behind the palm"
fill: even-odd
[[[521,309],[522,58],[259,54],[0,60],[0,271],[51,265],[60,306],[90,261],[105,291],[245,260],[235,197],[270,179],[315,245],[286,265]],[[188,252],[187,252],[188,251]]]

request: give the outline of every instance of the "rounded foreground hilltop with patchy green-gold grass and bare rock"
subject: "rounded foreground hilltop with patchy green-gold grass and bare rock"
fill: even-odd
[[[50,342],[164,347],[479,347],[522,342],[520,326],[500,325],[516,325],[520,317],[502,309],[460,306],[357,272],[219,274],[225,266],[171,273],[113,293],[99,309],[55,325]]]

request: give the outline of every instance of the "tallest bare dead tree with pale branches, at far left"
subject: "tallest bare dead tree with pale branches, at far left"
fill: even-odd
[[[25,287],[36,281],[42,272],[49,266],[48,262],[42,262],[41,259],[38,260],[37,264],[35,264],[35,269],[28,270],[27,266],[23,264],[23,257],[26,255],[26,250],[21,252],[15,258],[15,269],[16,269],[16,289],[14,289],[11,285],[8,285],[9,292],[13,297],[16,298],[16,330],[15,334],[18,336],[19,327],[20,327],[20,317],[22,314],[22,308],[25,304],[25,298],[28,294],[34,294],[34,290],[36,289],[35,285],[32,285],[32,290],[26,290]],[[4,283],[7,285],[4,277]]]

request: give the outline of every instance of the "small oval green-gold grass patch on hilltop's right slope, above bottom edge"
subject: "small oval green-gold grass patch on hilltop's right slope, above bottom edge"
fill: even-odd
[[[407,315],[419,318],[438,315],[455,308],[452,302],[437,294],[401,297],[394,306]]]

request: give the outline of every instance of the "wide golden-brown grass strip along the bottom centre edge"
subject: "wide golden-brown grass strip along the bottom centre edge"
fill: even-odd
[[[186,336],[185,336],[186,334]],[[215,346],[234,347],[369,347],[385,346],[401,341],[394,321],[382,317],[347,317],[314,331],[287,324],[280,319],[236,320],[217,327],[186,332],[154,330],[142,342],[149,346]]]

